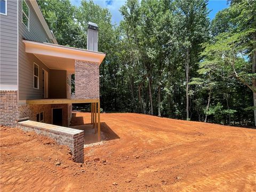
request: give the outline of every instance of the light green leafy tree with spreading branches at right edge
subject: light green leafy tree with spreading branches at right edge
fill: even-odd
[[[225,18],[232,18],[228,25],[230,27],[228,30],[220,28],[220,33],[214,37],[213,42],[204,44],[201,71],[212,70],[223,78],[235,77],[237,81],[247,86],[253,92],[256,126],[256,17],[253,11],[255,6],[254,1],[232,1],[231,6],[223,10],[222,14],[228,15]],[[217,19],[222,20],[218,17]]]

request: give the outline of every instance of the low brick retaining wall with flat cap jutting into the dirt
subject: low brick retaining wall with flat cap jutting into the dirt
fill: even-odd
[[[34,121],[19,122],[18,127],[53,138],[60,145],[70,148],[74,162],[84,162],[84,131]]]

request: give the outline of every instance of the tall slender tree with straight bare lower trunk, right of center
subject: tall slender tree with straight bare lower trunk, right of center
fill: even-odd
[[[178,38],[183,50],[182,57],[186,70],[186,118],[189,117],[189,82],[191,69],[197,69],[198,54],[201,43],[209,37],[210,21],[207,18],[207,1],[176,1],[179,21],[176,22],[180,37]]]

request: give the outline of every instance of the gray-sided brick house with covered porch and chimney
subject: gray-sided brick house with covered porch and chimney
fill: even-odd
[[[83,50],[58,45],[36,1],[1,0],[0,23],[0,124],[29,119],[68,127],[72,103],[91,103],[100,137],[99,65],[105,53],[98,52],[98,26],[89,22]]]

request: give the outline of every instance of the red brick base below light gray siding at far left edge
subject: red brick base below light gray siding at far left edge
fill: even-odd
[[[0,91],[0,124],[15,126],[18,119],[18,92]]]

